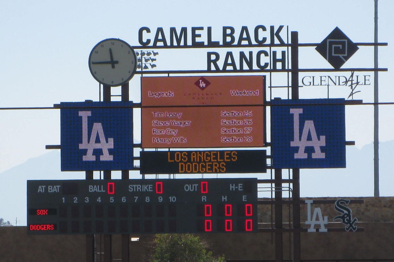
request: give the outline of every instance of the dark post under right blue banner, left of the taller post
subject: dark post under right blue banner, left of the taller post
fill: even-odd
[[[275,201],[282,201],[282,169],[275,169]],[[280,202],[279,202],[280,203]],[[282,204],[275,204],[275,262],[283,261]]]

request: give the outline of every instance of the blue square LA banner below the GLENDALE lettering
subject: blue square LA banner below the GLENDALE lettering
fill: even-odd
[[[345,168],[345,100],[273,100],[273,168]]]

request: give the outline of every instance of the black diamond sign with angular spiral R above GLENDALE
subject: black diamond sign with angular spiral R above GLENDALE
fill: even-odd
[[[336,27],[318,46],[316,50],[335,68],[339,69],[357,51],[353,43]]]

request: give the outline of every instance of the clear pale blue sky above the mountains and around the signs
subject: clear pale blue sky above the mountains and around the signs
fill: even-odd
[[[392,0],[379,0],[379,41],[389,43],[379,48],[379,65],[389,68],[389,72],[379,74],[380,101],[394,101],[390,77],[394,57],[393,11]],[[163,27],[165,32],[171,26],[189,30],[192,26],[212,26],[215,40],[221,38],[222,26],[233,26],[239,32],[241,26],[253,31],[261,24],[267,28],[288,25],[290,31],[299,31],[299,42],[320,42],[336,26],[354,42],[372,42],[374,1],[15,0],[2,2],[0,24],[0,107],[51,107],[61,101],[99,100],[98,83],[89,73],[87,59],[93,46],[105,38],[120,38],[138,46],[138,30],[143,26],[152,31]],[[158,70],[206,69],[206,50],[158,51]],[[373,65],[373,48],[364,46],[344,67]],[[301,48],[300,68],[307,67],[331,68],[314,48]],[[286,74],[274,74],[272,80],[277,85],[286,83]],[[136,102],[140,101],[139,81],[136,75],[130,82],[130,100]],[[372,90],[373,85],[362,87],[356,98],[371,102]],[[334,91],[333,96],[346,96],[349,92],[343,88],[338,88],[338,93]],[[320,87],[305,88],[300,90],[300,98],[324,98],[326,92]],[[274,96],[284,94],[278,91]],[[393,106],[380,109],[380,139],[393,140]],[[355,140],[359,148],[371,143],[372,107],[347,107],[346,113],[347,140]],[[0,111],[0,122],[0,172],[44,154],[46,144],[60,144],[58,110]],[[139,140],[139,123],[135,125],[135,139]]]

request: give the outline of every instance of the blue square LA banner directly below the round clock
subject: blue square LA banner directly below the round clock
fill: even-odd
[[[132,104],[60,103],[61,171],[131,170]]]

